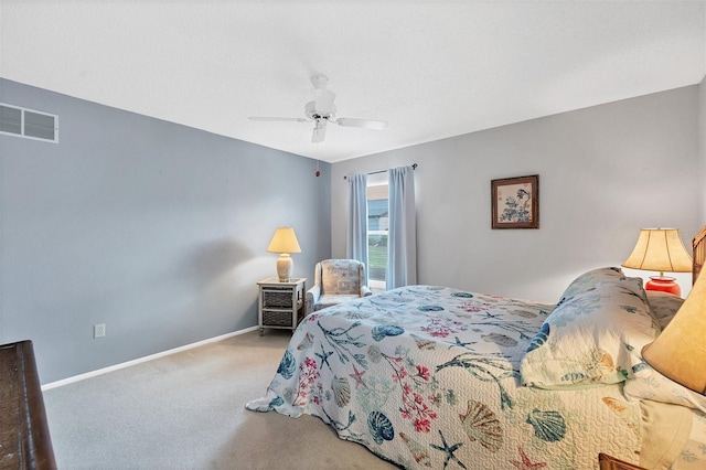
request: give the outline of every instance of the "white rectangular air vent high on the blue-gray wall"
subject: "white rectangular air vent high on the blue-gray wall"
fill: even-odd
[[[58,142],[58,116],[0,103],[0,133]]]

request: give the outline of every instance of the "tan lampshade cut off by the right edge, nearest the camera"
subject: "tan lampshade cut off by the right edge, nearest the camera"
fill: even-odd
[[[696,279],[682,307],[642,357],[662,375],[706,395],[706,276]]]

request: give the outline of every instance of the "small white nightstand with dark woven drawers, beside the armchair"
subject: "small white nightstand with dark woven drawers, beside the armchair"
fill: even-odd
[[[278,278],[270,277],[257,282],[259,286],[259,300],[257,308],[257,322],[260,337],[266,328],[296,330],[299,321],[304,317],[304,292],[307,291],[307,278],[291,278],[287,282],[280,282]]]

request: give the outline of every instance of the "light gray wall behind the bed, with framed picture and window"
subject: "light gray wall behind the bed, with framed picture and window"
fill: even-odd
[[[678,227],[688,244],[706,223],[698,108],[689,86],[335,163],[333,256],[343,177],[418,163],[419,282],[556,301],[580,273],[620,265],[640,228]],[[491,180],[527,174],[539,174],[541,228],[491,229]],[[677,279],[688,292],[689,275]]]

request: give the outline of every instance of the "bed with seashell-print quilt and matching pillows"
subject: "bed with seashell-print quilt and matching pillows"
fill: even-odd
[[[682,301],[618,267],[584,273],[556,305],[398,288],[306,317],[246,407],[317,416],[409,469],[590,469],[601,452],[703,469],[706,399],[640,355]]]

